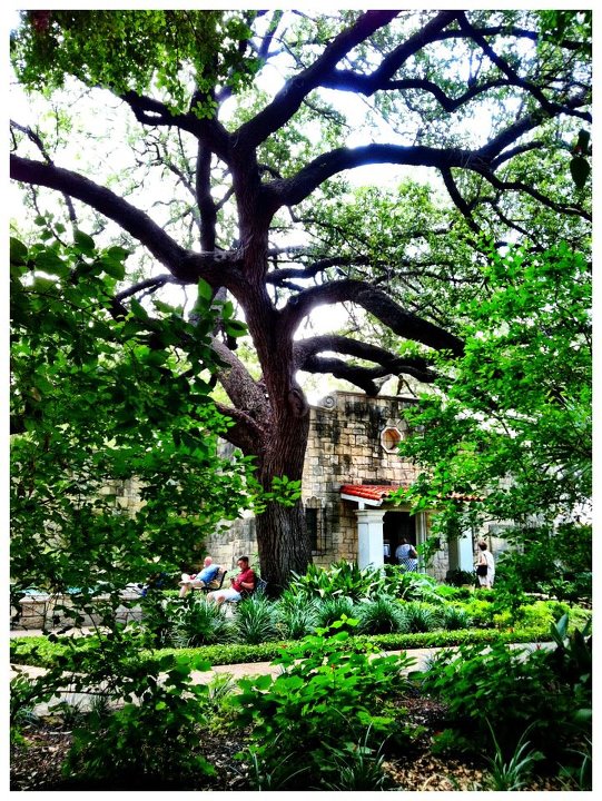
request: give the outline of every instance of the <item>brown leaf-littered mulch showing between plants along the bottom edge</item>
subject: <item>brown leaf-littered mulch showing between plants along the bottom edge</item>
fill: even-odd
[[[411,752],[389,758],[385,770],[392,790],[477,790],[484,789],[485,763],[475,760],[433,756],[430,750],[432,734],[441,728],[444,709],[426,699],[404,700],[408,722],[424,726],[424,733],[413,743]],[[145,787],[139,780],[130,785],[106,781],[96,784],[66,780],[61,765],[71,743],[71,731],[58,718],[32,722],[23,728],[27,745],[11,750],[11,790],[249,790],[248,768],[235,754],[245,746],[244,738],[231,731],[213,732],[200,744],[200,752],[217,769],[214,778],[199,777],[198,781],[175,779],[162,785],[156,780]],[[298,788],[303,789],[303,788]],[[537,778],[523,788],[526,791],[562,791],[566,788],[556,778]]]

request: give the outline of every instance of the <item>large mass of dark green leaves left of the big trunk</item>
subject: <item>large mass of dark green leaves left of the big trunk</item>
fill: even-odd
[[[83,603],[198,558],[204,533],[238,514],[249,465],[216,456],[210,310],[193,326],[162,306],[149,334],[140,305],[111,316],[126,250],[49,236],[11,243],[12,575],[16,592],[77,589]],[[132,479],[134,512],[115,501]]]

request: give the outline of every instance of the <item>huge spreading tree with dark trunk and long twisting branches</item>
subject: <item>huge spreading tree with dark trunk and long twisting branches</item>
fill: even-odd
[[[166,270],[116,289],[115,315],[199,279],[235,299],[261,375],[227,332],[214,337],[227,436],[269,490],[302,475],[299,370],[368,394],[391,375],[432,383],[433,354],[465,353],[451,310],[455,288],[478,281],[483,237],[529,238],[536,251],[550,220],[572,241],[588,230],[590,28],[578,11],[23,12],[19,81],[62,106],[51,130],[16,121],[11,176],[38,206],[47,188],[73,220],[88,208],[98,227],[116,224]],[[75,87],[90,92],[89,118],[65,106]],[[124,169],[100,179],[87,151],[73,155],[79,126],[89,147],[108,132],[115,161],[118,141]],[[448,210],[427,215],[428,199],[406,188],[388,201],[359,196],[367,214],[346,214],[349,172],[374,165],[438,177]],[[424,303],[450,286],[444,308]],[[310,313],[334,304],[388,338],[300,338]],[[257,537],[276,585],[310,561],[300,503],[268,503]]]

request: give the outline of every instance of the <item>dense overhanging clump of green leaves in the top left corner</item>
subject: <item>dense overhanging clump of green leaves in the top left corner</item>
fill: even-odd
[[[184,111],[191,97],[182,75],[191,73],[200,90],[197,112],[203,117],[215,109],[209,98],[216,83],[239,90],[259,66],[251,53],[240,50],[250,33],[253,12],[22,13],[29,24],[11,40],[13,62],[23,83],[45,91],[62,87],[66,75],[118,95],[145,93],[154,86],[174,110]]]

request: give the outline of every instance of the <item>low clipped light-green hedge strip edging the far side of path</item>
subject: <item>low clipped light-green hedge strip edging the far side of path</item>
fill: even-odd
[[[457,631],[435,631],[418,634],[358,634],[349,637],[349,651],[365,652],[368,649],[383,651],[406,651],[425,647],[453,647],[465,644],[487,644],[494,642],[526,643],[550,640],[547,629],[514,629],[512,631],[497,631],[495,629],[461,629]],[[95,646],[96,635],[90,637],[70,639],[70,644],[62,643],[60,637],[51,642],[43,636],[13,637],[10,641],[10,660],[13,664],[29,664],[39,668],[50,668],[56,664],[57,657],[72,652],[73,645],[79,649]],[[282,649],[295,645],[299,641],[267,642],[259,645],[228,644],[203,645],[196,649],[157,649],[144,651],[142,660],[149,663],[160,660],[161,656],[176,653],[189,653],[201,657],[211,665],[228,665],[251,662],[272,662],[279,655]]]

